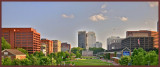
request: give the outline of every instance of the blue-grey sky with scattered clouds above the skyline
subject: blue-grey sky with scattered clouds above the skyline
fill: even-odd
[[[2,2],[2,28],[32,27],[41,38],[78,46],[78,31],[107,38],[126,31],[157,31],[158,2]]]

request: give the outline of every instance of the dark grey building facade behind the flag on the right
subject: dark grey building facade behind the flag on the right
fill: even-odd
[[[122,49],[125,47],[133,51],[135,48],[143,48],[144,50],[153,49],[153,37],[128,37],[121,42]]]

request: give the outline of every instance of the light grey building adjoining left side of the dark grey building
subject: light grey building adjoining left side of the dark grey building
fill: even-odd
[[[124,38],[120,38],[118,36],[111,36],[107,38],[107,50],[112,50],[112,49],[119,49],[117,48],[118,46],[121,46],[121,41]],[[117,47],[116,47],[117,46]]]

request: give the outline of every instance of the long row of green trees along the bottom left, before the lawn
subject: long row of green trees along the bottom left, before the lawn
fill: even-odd
[[[20,51],[24,49],[19,48]],[[26,51],[25,51],[26,52]],[[62,61],[69,61],[74,59],[74,53],[69,52],[58,52],[51,53],[50,55],[45,56],[42,52],[35,52],[34,54],[27,54],[26,59],[13,59],[11,58],[2,58],[2,65],[61,65]]]

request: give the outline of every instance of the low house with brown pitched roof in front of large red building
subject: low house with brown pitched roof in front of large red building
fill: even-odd
[[[17,49],[5,49],[1,52],[2,58],[9,57],[12,60],[13,59],[25,59],[26,54],[22,53],[21,51]]]

